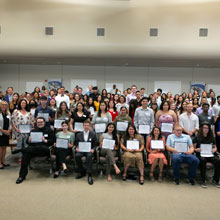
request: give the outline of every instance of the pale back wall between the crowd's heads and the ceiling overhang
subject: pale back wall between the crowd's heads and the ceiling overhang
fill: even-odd
[[[220,82],[218,68],[167,68],[167,67],[119,67],[119,66],[70,66],[70,65],[0,65],[0,87],[5,91],[13,86],[15,91],[24,92],[26,82],[61,78],[66,89],[70,89],[71,79],[96,79],[98,87],[106,82],[123,83],[124,88],[136,84],[145,87],[147,93],[154,90],[154,81],[181,81],[182,92],[189,92],[191,81],[206,84]],[[45,82],[46,84],[46,82]]]

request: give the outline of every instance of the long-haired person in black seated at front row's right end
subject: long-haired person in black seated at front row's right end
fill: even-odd
[[[203,122],[199,129],[198,135],[194,138],[193,144],[195,147],[196,156],[200,160],[200,172],[202,177],[203,188],[206,188],[206,163],[213,163],[215,166],[215,172],[213,176],[213,183],[216,187],[220,187],[219,175],[220,175],[220,159],[215,155],[217,147],[215,144],[215,138],[213,136],[211,126],[208,122]]]

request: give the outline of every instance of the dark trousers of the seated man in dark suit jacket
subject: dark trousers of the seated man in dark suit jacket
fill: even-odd
[[[82,157],[85,156],[86,157],[86,168],[87,168],[87,173],[88,174],[92,174],[92,157],[93,157],[93,153],[89,152],[89,153],[84,153],[84,152],[77,152],[76,153],[76,163],[79,169],[80,173],[84,173],[85,170],[83,168],[83,164],[82,164]]]

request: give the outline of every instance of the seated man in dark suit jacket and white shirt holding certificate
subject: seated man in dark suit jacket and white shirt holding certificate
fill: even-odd
[[[76,163],[79,174],[76,179],[80,179],[86,175],[83,168],[82,157],[86,157],[86,166],[88,173],[88,183],[93,184],[92,179],[92,157],[94,155],[95,147],[97,146],[96,134],[90,131],[90,120],[83,122],[83,131],[76,135]]]

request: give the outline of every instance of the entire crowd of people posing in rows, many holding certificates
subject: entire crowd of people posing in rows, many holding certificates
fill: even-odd
[[[19,153],[21,168],[17,184],[28,173],[28,164],[35,156],[56,155],[54,178],[68,172],[67,157],[73,155],[78,167],[77,179],[88,174],[93,184],[92,167],[96,152],[106,158],[107,180],[111,170],[120,174],[116,158],[123,163],[122,179],[126,181],[129,167],[137,166],[139,183],[144,184],[145,151],[150,164],[149,178],[163,181],[164,165],[172,165],[174,183],[180,184],[182,163],[189,164],[189,184],[195,184],[200,167],[201,185],[206,188],[206,164],[214,164],[213,183],[220,187],[220,96],[211,90],[200,96],[184,92],[174,97],[170,92],[146,95],[135,85],[121,94],[117,89],[108,93],[89,86],[84,94],[76,86],[73,93],[64,87],[55,90],[36,87],[33,93],[19,95],[8,87],[0,96],[0,169],[5,161],[9,139],[16,143],[13,154]],[[86,169],[82,158],[86,157]]]

